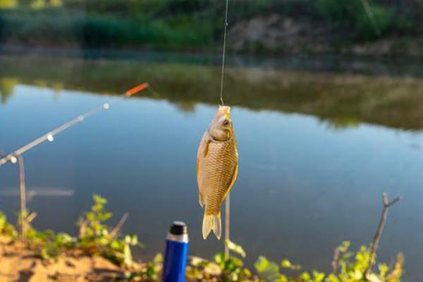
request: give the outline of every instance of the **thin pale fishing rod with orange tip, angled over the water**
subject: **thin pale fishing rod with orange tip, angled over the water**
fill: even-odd
[[[142,90],[145,90],[147,87],[149,87],[149,84],[147,82],[144,82],[144,83],[141,83],[140,85],[130,88],[129,90],[126,90],[125,92],[119,94],[119,96],[123,96],[123,98],[131,97],[133,96],[133,94],[141,92]],[[84,121],[85,118],[88,118],[89,116],[92,116],[93,114],[97,114],[99,111],[109,109],[111,104],[112,104],[111,102],[105,102],[99,106],[96,106],[94,109],[91,109],[90,111],[87,111],[84,114],[80,114],[79,116],[72,118],[70,121],[63,123],[62,125],[59,125],[57,128],[54,128],[48,133],[38,137],[35,140],[32,140],[26,145],[23,145],[23,147],[20,147],[19,149],[16,149],[14,152],[7,154],[6,157],[1,158],[0,166],[3,166],[4,164],[7,164],[8,162],[11,162],[12,164],[16,164],[18,162],[18,157],[21,156],[23,153],[29,151],[30,149],[34,147],[37,147],[43,142],[46,142],[46,141],[53,142],[55,135],[58,135],[63,130],[66,130],[70,128],[71,126]]]

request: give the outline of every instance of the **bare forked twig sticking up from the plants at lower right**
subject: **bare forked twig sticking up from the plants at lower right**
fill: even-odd
[[[388,219],[388,209],[393,206],[393,204],[396,204],[401,200],[401,197],[394,198],[391,202],[389,202],[388,195],[386,192],[382,195],[383,200],[383,209],[381,214],[381,219],[379,220],[379,224],[376,228],[376,233],[374,233],[374,238],[372,241],[372,245],[370,248],[370,256],[369,256],[369,264],[367,265],[367,269],[364,271],[364,279],[368,281],[367,275],[372,271],[372,266],[374,264],[374,260],[376,258],[376,251],[379,247],[379,242],[381,240],[382,233],[384,231],[386,219]]]

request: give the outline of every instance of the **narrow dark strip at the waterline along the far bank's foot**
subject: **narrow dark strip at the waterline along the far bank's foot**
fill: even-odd
[[[221,54],[211,51],[158,51],[147,49],[44,47],[23,44],[0,44],[0,56],[39,56],[70,59],[118,59],[157,62],[193,63],[219,66]],[[415,56],[365,56],[350,54],[245,54],[229,52],[228,66],[423,77],[421,59]]]

